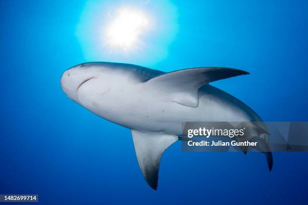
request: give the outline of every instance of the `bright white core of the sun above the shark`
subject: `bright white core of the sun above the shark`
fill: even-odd
[[[107,28],[106,40],[112,46],[122,49],[132,47],[146,30],[148,20],[139,11],[120,10]]]

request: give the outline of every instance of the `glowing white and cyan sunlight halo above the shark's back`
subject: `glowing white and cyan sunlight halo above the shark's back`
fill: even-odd
[[[178,31],[168,1],[88,1],[76,27],[87,61],[151,65],[168,56]]]

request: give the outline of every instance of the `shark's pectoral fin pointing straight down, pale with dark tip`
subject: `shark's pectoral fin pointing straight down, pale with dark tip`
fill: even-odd
[[[162,154],[178,136],[137,130],[131,130],[131,134],[142,175],[148,185],[157,190]]]

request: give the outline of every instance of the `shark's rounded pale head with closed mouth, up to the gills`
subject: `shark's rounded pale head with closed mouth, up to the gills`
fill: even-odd
[[[61,87],[73,101],[96,115],[108,119],[117,112],[125,97],[124,89],[136,82],[133,69],[109,62],[82,63],[67,69],[61,76]]]

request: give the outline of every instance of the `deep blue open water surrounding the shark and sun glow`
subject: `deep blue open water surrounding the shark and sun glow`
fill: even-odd
[[[131,62],[163,71],[243,69],[251,74],[212,84],[265,121],[308,121],[306,1],[171,3],[178,28],[168,55],[153,60],[145,50],[147,61]],[[89,59],[75,32],[85,6],[0,2],[0,193],[36,193],[40,204],[307,203],[307,153],[273,153],[269,172],[261,153],[186,153],[180,142],[165,152],[153,191],[130,131],[60,88],[62,72]]]

